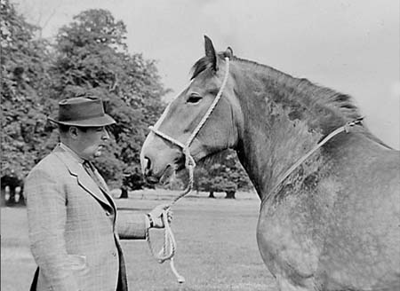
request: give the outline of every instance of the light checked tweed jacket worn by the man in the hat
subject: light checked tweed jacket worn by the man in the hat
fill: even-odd
[[[30,171],[28,232],[38,265],[31,290],[127,290],[119,238],[145,239],[145,215],[117,217],[106,183],[95,174],[103,190],[60,145]]]

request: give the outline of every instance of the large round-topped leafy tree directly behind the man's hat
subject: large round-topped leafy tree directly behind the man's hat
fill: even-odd
[[[161,97],[167,90],[154,60],[127,52],[125,35],[124,22],[101,9],[81,12],[61,28],[52,67],[53,98],[92,95],[105,101],[116,120],[110,128],[115,140],[97,167],[108,184],[121,185],[124,180],[135,189],[143,185],[137,175],[140,148],[148,125],[161,114]]]

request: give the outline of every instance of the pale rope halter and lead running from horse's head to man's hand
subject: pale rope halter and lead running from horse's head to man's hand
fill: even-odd
[[[190,154],[189,146],[191,145],[193,140],[196,138],[196,135],[202,129],[204,123],[207,121],[209,116],[212,114],[212,111],[214,110],[215,106],[217,106],[217,103],[220,100],[220,97],[222,96],[222,92],[228,82],[229,58],[228,57],[225,58],[225,61],[226,61],[226,70],[225,70],[224,79],[220,86],[220,90],[218,91],[217,96],[212,101],[212,105],[208,108],[207,112],[203,116],[203,119],[198,123],[196,129],[192,132],[192,134],[188,138],[188,141],[186,142],[185,145],[183,145],[179,140],[172,138],[172,137],[164,134],[160,130],[158,130],[159,125],[163,122],[164,117],[169,109],[169,105],[165,108],[165,111],[161,115],[160,120],[158,122],[156,122],[156,128],[153,126],[149,127],[149,129],[152,132],[154,132],[156,135],[170,141],[173,145],[179,146],[182,149],[182,153],[185,155],[185,168],[188,169],[188,172],[189,172],[188,186],[186,187],[186,189],[183,193],[180,193],[180,195],[178,195],[177,197],[175,197],[172,200],[172,202],[169,204],[167,209],[172,208],[172,206],[177,201],[179,201],[180,198],[184,197],[185,195],[187,195],[188,193],[190,193],[192,191],[196,162],[195,162],[195,159],[193,159],[192,155]],[[173,274],[175,275],[176,279],[178,280],[179,283],[184,283],[185,278],[180,275],[180,273],[176,270],[175,265],[173,263],[173,256],[175,256],[175,252],[176,252],[176,241],[173,236],[171,226],[168,223],[166,209],[164,210],[164,212],[161,216],[161,219],[163,220],[163,223],[164,223],[164,245],[163,245],[163,248],[158,252],[158,254],[156,254],[153,246],[151,245],[149,229],[147,229],[146,230],[146,240],[148,241],[148,248],[150,248],[151,255],[153,255],[156,258],[158,263],[164,263],[165,261],[169,260],[171,270],[172,270]]]

